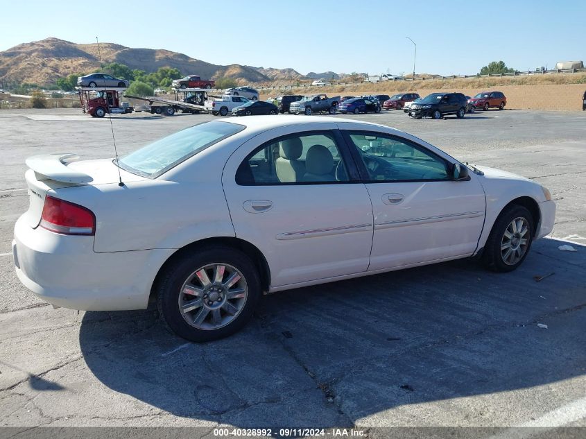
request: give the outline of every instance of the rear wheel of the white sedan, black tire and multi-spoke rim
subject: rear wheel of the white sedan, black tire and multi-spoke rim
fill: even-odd
[[[230,247],[183,252],[155,286],[160,315],[178,336],[198,343],[239,331],[261,296],[250,258]]]

